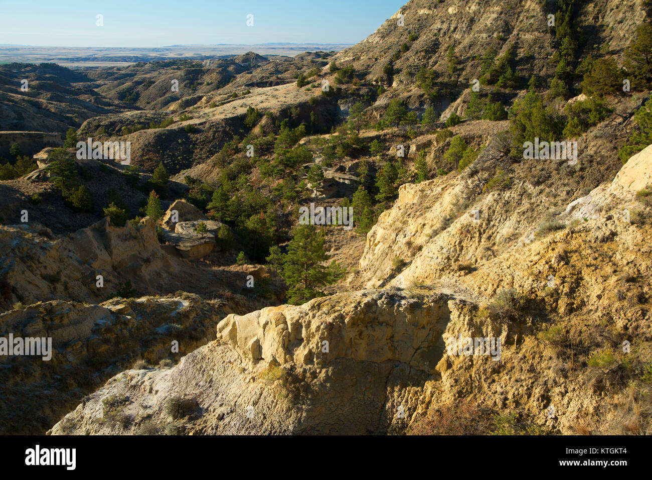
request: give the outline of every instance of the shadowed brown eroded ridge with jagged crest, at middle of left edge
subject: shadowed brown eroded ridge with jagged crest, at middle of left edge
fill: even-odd
[[[113,227],[104,219],[68,236],[39,225],[0,227],[0,246],[0,278],[10,285],[0,298],[5,308],[57,298],[98,303],[126,280],[141,293],[165,291],[170,280],[160,272],[181,272],[160,248],[149,217],[136,227]],[[97,287],[98,275],[103,287]]]

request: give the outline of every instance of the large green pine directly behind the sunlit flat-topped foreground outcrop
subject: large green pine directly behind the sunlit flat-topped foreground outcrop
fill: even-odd
[[[324,265],[329,259],[324,249],[325,240],[325,232],[312,225],[299,225],[295,229],[288,253],[284,255],[281,273],[289,287],[289,303],[297,305],[324,296],[320,287],[344,276],[344,271],[335,261]]]

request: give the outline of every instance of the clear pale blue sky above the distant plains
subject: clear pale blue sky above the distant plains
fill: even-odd
[[[0,0],[0,44],[356,43],[408,0]],[[96,26],[96,15],[104,26]],[[254,26],[246,16],[254,15]]]

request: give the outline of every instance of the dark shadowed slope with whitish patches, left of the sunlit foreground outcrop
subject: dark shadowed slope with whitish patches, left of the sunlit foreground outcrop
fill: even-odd
[[[226,312],[184,293],[101,305],[55,300],[1,314],[0,336],[50,337],[52,359],[0,356],[0,434],[43,434],[134,360],[173,362],[205,344]]]

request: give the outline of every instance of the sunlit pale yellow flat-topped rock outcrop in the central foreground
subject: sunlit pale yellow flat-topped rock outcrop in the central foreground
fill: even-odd
[[[439,377],[447,328],[464,323],[464,305],[444,295],[363,291],[229,315],[216,342],[171,370],[114,377],[52,434],[138,432],[145,417],[161,430],[194,434],[387,432],[406,424],[398,406],[421,397],[406,375],[412,385]],[[109,396],[128,398],[120,414],[129,421],[98,417]],[[197,402],[183,425],[170,416],[176,397]]]

